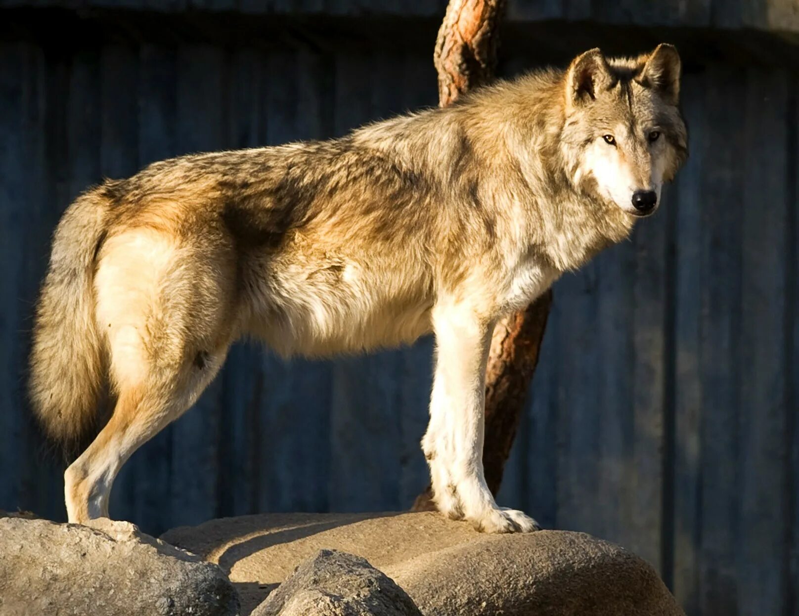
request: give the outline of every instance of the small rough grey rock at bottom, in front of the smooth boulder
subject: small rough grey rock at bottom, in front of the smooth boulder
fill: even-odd
[[[319,550],[252,616],[422,616],[404,590],[365,558]]]

